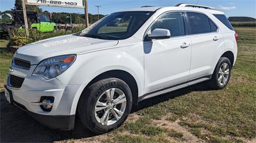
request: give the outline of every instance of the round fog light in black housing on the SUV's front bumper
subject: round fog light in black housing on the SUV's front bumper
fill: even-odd
[[[54,102],[54,97],[42,96],[40,98],[40,102],[36,102],[36,103],[33,102],[33,103],[31,103],[31,105],[39,105],[42,110],[44,110],[46,112],[50,112],[52,110],[53,102]]]

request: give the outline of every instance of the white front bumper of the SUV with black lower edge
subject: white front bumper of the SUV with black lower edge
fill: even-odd
[[[9,80],[10,78],[8,78],[7,85],[4,87],[12,96],[12,104],[25,110],[40,123],[50,128],[61,130],[72,130],[74,128],[76,110],[73,102],[81,85],[66,85],[56,78],[45,80],[42,77],[30,76],[24,77],[24,82],[20,88],[15,88],[10,86]],[[42,96],[54,97],[50,112],[45,112],[39,105],[31,105],[31,103],[40,102]]]

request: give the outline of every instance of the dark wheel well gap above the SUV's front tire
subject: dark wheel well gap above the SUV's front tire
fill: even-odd
[[[110,78],[110,77],[115,77],[117,79],[124,80],[124,82],[128,84],[128,86],[132,91],[132,104],[137,105],[138,104],[138,85],[134,77],[132,77],[130,73],[125,72],[123,70],[111,70],[108,72],[101,73],[100,75],[95,77],[86,87],[92,85],[93,83],[99,80]],[[86,87],[84,89],[86,89]]]

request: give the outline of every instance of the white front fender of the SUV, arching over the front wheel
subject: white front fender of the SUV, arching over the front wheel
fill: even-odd
[[[77,55],[74,65],[64,72],[65,74],[58,77],[65,84],[80,85],[74,96],[71,114],[76,113],[81,93],[89,82],[101,73],[111,70],[122,70],[130,73],[138,85],[139,96],[142,94],[144,86],[143,49],[141,52],[132,49],[128,48],[125,51],[125,48],[119,48]],[[137,49],[139,48],[137,47]],[[130,54],[129,51],[133,53]]]

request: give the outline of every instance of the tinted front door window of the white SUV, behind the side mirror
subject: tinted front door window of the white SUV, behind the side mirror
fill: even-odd
[[[185,35],[182,12],[164,14],[156,22],[154,22],[150,28],[150,32],[152,32],[154,29],[168,29],[172,37]]]

